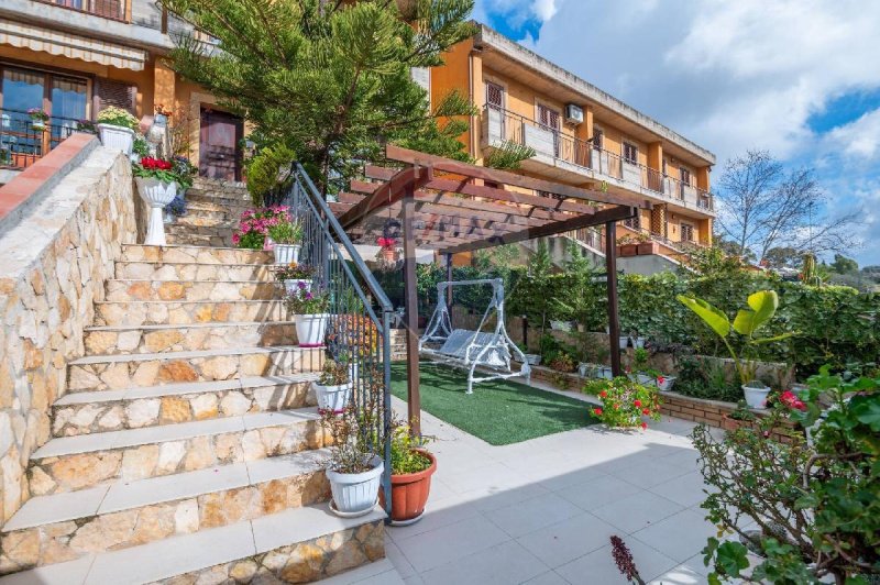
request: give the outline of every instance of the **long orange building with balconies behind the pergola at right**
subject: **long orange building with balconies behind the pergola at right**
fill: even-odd
[[[453,89],[480,110],[462,136],[477,161],[508,141],[530,146],[527,175],[650,200],[622,238],[651,238],[669,256],[712,243],[707,150],[482,24],[431,70],[435,103]],[[579,239],[598,247],[596,235]]]

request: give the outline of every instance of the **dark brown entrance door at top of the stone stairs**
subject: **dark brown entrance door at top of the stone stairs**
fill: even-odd
[[[242,120],[238,115],[201,110],[199,131],[199,176],[241,180]]]

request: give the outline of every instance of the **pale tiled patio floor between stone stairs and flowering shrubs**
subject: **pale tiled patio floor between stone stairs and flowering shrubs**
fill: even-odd
[[[706,583],[700,551],[715,529],[692,428],[664,417],[647,431],[593,426],[493,446],[425,412],[438,456],[425,518],[387,529],[385,561],[331,581],[623,584],[618,534],[646,582]]]

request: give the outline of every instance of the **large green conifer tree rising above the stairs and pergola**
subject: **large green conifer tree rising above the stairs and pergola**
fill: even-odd
[[[411,71],[473,34],[473,0],[158,1],[199,31],[177,38],[170,66],[250,121],[258,146],[293,152],[324,190],[387,142],[466,157],[458,136],[472,106],[451,92],[431,108]]]

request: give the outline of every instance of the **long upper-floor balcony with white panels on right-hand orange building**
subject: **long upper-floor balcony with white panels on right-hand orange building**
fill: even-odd
[[[506,142],[535,150],[532,162],[552,166],[559,172],[553,178],[582,178],[605,181],[609,187],[637,190],[671,205],[714,214],[711,192],[666,176],[659,170],[626,161],[617,154],[596,148],[592,143],[563,134],[522,115],[486,106],[483,112],[483,146],[496,147]],[[527,165],[524,165],[527,166]],[[572,175],[566,177],[565,174]]]

